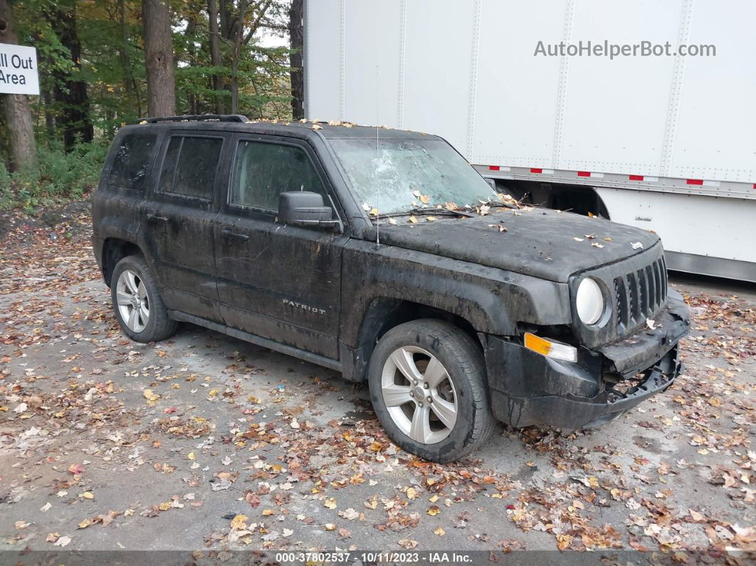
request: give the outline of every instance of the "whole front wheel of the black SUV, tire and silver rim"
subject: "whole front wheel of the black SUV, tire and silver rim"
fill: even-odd
[[[373,409],[399,446],[434,462],[480,447],[494,418],[480,348],[442,320],[386,332],[370,357]]]

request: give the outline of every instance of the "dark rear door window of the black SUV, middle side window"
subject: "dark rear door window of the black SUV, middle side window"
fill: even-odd
[[[215,171],[223,140],[219,138],[171,138],[160,171],[161,193],[212,200]]]

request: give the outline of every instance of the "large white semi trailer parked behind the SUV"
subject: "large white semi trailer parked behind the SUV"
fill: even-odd
[[[442,135],[502,191],[756,281],[754,22],[751,0],[308,0],[305,113]]]

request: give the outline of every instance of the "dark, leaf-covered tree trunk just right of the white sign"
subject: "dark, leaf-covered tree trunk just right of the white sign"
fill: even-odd
[[[57,10],[50,23],[60,44],[70,51],[74,75],[79,73],[82,44],[76,28],[76,2],[57,2]],[[55,78],[54,97],[60,106],[58,131],[63,132],[64,147],[70,150],[76,141],[86,142],[95,138],[95,128],[89,121],[87,83],[81,79],[72,79],[69,73],[57,73]]]

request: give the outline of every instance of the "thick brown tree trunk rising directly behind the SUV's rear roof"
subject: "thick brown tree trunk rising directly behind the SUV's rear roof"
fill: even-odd
[[[144,65],[147,67],[147,114],[175,116],[173,40],[167,0],[142,2]]]

